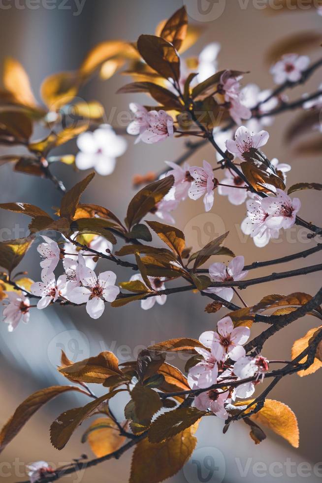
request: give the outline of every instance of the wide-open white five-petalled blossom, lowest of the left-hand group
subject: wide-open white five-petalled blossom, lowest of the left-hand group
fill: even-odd
[[[81,287],[75,287],[68,293],[68,300],[74,304],[85,304],[90,317],[97,319],[102,315],[106,302],[114,302],[120,289],[116,282],[114,272],[102,272],[98,276],[88,267],[82,267],[79,271]]]

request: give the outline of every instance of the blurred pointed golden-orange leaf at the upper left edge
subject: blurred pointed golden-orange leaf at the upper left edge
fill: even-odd
[[[4,60],[3,85],[14,95],[18,103],[36,107],[29,77],[22,65],[11,57]]]

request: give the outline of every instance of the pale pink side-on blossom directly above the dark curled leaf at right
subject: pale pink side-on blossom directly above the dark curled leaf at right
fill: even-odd
[[[244,157],[244,153],[248,153],[251,148],[258,148],[266,144],[269,134],[267,131],[259,131],[259,133],[251,133],[245,126],[240,126],[235,132],[235,140],[227,139],[226,148],[235,156]]]

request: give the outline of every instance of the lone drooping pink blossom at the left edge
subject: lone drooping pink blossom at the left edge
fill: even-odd
[[[9,324],[8,331],[12,332],[18,326],[20,320],[26,324],[30,318],[30,300],[25,296],[23,292],[5,292],[8,299],[4,302],[8,302],[8,305],[3,309],[3,322]]]

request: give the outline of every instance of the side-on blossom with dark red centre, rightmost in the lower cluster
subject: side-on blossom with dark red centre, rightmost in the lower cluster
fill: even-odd
[[[264,373],[268,371],[268,360],[261,355],[251,357],[245,355],[235,362],[233,373],[240,379],[247,379],[256,376],[256,381],[263,380]],[[256,382],[255,381],[255,382]],[[235,396],[245,399],[255,391],[254,382],[245,382],[235,388]]]

